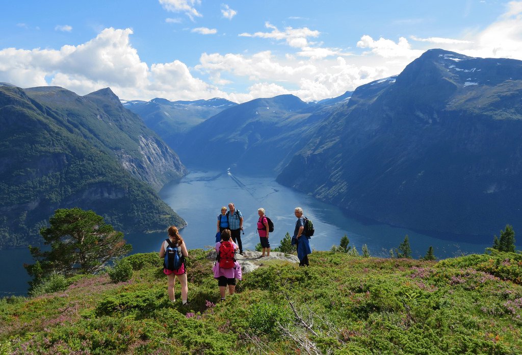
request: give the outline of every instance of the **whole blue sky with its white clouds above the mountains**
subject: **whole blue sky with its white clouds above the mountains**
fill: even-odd
[[[4,2],[0,82],[121,99],[336,97],[425,50],[522,60],[522,1]]]

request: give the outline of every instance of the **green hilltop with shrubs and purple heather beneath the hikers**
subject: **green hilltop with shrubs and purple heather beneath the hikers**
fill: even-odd
[[[440,262],[314,252],[243,275],[219,303],[207,252],[187,261],[189,307],[167,296],[156,253],[126,258],[126,282],[67,279],[64,291],[0,301],[0,352],[157,354],[517,354],[522,255]]]

